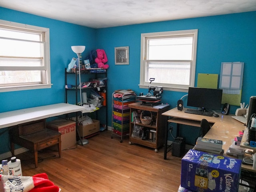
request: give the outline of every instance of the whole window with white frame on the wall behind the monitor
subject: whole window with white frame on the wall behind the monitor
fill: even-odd
[[[140,88],[186,92],[194,86],[198,30],[141,34]]]

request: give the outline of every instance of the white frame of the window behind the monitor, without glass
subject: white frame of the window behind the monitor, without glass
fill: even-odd
[[[149,38],[170,38],[170,36],[184,36],[184,35],[192,35],[193,38],[193,53],[192,53],[192,60],[168,60],[167,62],[190,62],[190,82],[189,85],[176,85],[176,84],[158,84],[151,83],[152,86],[162,86],[164,90],[170,91],[178,91],[178,92],[188,92],[188,87],[194,86],[195,82],[195,73],[196,73],[196,50],[197,50],[197,35],[198,30],[180,30],[180,31],[167,31],[167,32],[154,32],[154,33],[142,33],[141,34],[141,49],[140,49],[140,88],[148,88],[150,83],[149,79],[146,80],[146,67],[147,62],[146,60],[146,48],[147,48],[147,40]],[[152,61],[152,60],[150,60]],[[164,62],[164,61],[163,61]],[[166,60],[165,60],[166,62]],[[154,77],[150,77],[154,78]]]

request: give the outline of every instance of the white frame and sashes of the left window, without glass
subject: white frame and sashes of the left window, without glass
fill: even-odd
[[[44,28],[44,27],[38,27],[38,26],[32,26],[32,25],[27,25],[27,24],[21,24],[21,23],[16,23],[16,22],[10,22],[10,21],[5,21],[5,20],[0,20],[0,26],[6,26],[6,27],[12,27],[16,28],[17,30],[24,30],[24,31],[40,31],[42,34],[44,34],[44,40],[43,40],[43,45],[44,45],[44,54],[43,54],[43,59],[44,59],[44,67],[38,66],[37,67],[12,67],[12,66],[0,66],[0,71],[6,71],[6,70],[40,70],[41,71],[41,76],[42,76],[42,83],[40,84],[35,84],[35,83],[27,83],[20,85],[18,83],[12,84],[10,86],[1,86],[0,84],[0,92],[11,92],[11,91],[19,91],[19,90],[33,90],[33,89],[44,89],[44,88],[51,88],[51,72],[50,72],[50,29],[49,28]],[[0,45],[1,46],[1,45]],[[0,57],[1,60],[1,57]]]

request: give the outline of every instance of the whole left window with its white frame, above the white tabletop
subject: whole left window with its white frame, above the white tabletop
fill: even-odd
[[[51,88],[48,28],[0,20],[0,92]]]

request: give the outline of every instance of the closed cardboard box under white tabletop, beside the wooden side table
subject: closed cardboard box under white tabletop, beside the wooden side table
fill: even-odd
[[[76,122],[66,119],[57,119],[47,122],[46,127],[61,133],[61,150],[76,145]]]

